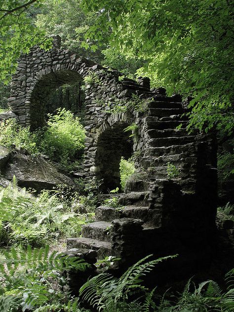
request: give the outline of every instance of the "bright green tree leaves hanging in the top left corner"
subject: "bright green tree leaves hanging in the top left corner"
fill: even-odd
[[[36,44],[48,49],[51,40],[36,28],[29,14],[29,7],[35,10],[41,0],[0,0],[0,80],[10,80],[21,53],[28,53]]]

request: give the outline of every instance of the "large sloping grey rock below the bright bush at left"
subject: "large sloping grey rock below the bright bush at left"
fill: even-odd
[[[20,153],[12,155],[3,176],[12,180],[14,175],[20,187],[32,188],[38,192],[43,189],[51,190],[59,184],[74,185],[72,179],[60,173],[54,164],[39,156]]]

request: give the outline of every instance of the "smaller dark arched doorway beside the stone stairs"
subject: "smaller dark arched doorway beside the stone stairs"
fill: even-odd
[[[95,164],[98,168],[97,180],[101,180],[101,191],[107,193],[117,187],[121,191],[119,163],[121,157],[128,159],[133,154],[133,142],[129,132],[124,129],[129,126],[124,121],[117,121],[108,126],[99,136]]]

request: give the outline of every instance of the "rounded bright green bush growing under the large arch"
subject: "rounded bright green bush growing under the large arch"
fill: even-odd
[[[81,156],[84,148],[85,130],[78,117],[65,109],[58,109],[56,115],[48,115],[48,127],[38,132],[39,149],[62,167],[68,166]]]

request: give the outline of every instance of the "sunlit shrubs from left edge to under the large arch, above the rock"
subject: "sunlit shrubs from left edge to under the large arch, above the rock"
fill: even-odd
[[[0,145],[32,155],[47,155],[69,171],[81,159],[85,131],[78,117],[65,109],[48,115],[48,126],[31,132],[14,119],[0,124]]]

